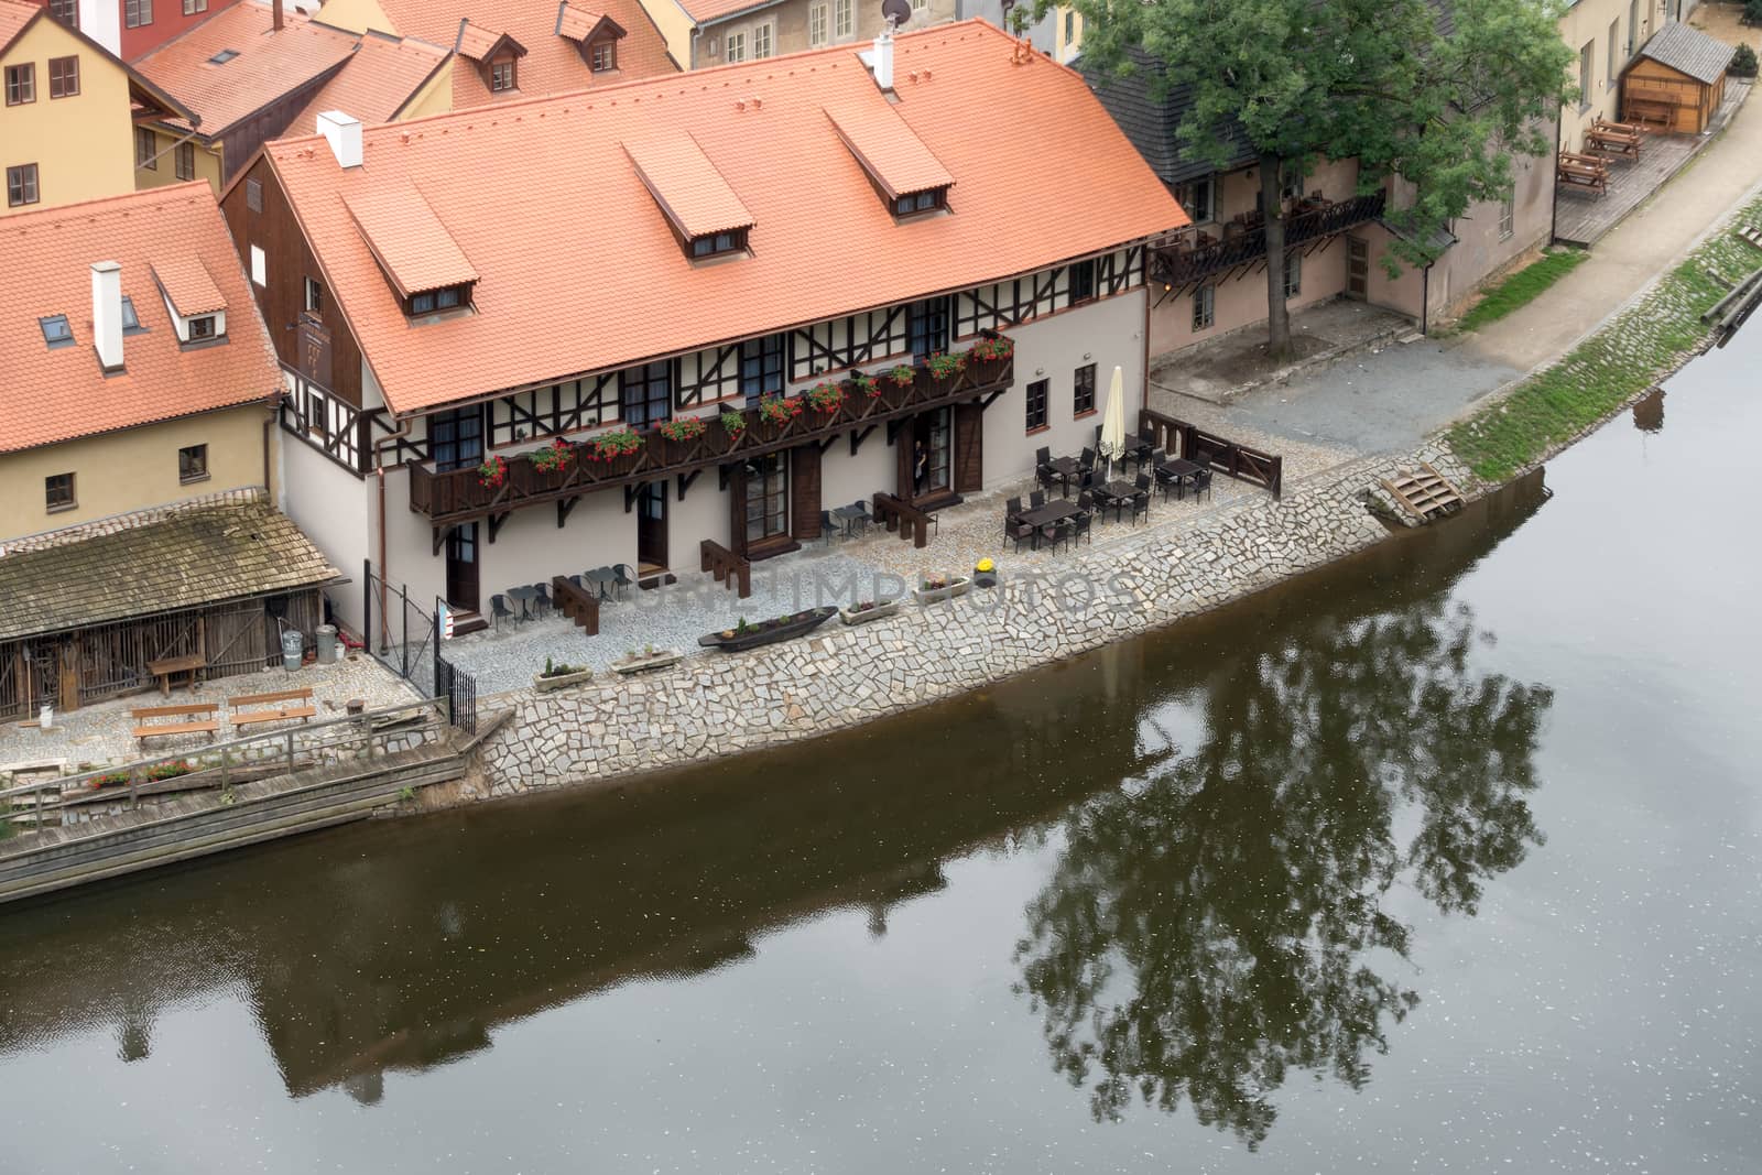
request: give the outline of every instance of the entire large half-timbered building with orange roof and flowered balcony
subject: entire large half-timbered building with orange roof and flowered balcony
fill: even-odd
[[[696,569],[705,539],[765,558],[823,509],[934,509],[1080,447],[1114,366],[1142,396],[1179,204],[996,28],[869,53],[893,86],[826,49],[271,144],[222,206],[287,372],[292,516],[470,611]]]

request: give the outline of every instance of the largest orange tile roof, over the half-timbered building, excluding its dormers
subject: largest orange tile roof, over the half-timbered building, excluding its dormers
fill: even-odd
[[[895,222],[826,120],[828,106],[886,104],[853,46],[372,127],[365,166],[347,173],[317,139],[273,143],[268,159],[403,414],[1031,273],[1188,224],[1070,69],[1038,55],[1017,63],[1015,41],[980,21],[906,33],[895,53],[893,109],[955,178],[950,215]],[[666,129],[689,132],[752,213],[751,257],[684,257],[624,150]],[[412,329],[349,220],[345,199],[405,183],[481,275],[476,314]]]

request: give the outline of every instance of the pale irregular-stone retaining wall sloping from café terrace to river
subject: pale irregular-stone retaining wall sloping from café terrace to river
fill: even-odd
[[[1168,625],[1385,539],[1364,493],[1420,460],[1448,477],[1466,474],[1434,442],[1316,474],[1279,502],[1256,495],[1223,506],[1179,534],[1145,530],[1084,548],[1052,578],[927,608],[907,602],[856,627],[833,620],[807,639],[691,657],[654,675],[509,694],[515,713],[485,743],[481,780],[460,798],[604,782],[812,738]]]

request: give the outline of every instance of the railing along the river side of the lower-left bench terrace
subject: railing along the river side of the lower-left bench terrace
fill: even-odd
[[[301,722],[278,731],[247,735],[227,742],[208,743],[196,750],[176,750],[148,759],[136,759],[123,766],[106,766],[79,775],[60,775],[39,779],[28,784],[0,789],[0,807],[18,807],[14,800],[30,796],[32,828],[42,826],[44,812],[60,812],[63,793],[97,791],[100,796],[115,800],[127,798],[129,809],[141,807],[143,787],[171,780],[189,780],[197,775],[210,775],[213,786],[226,791],[233,786],[234,775],[248,773],[263,779],[264,768],[282,766],[285,773],[308,770],[328,763],[342,763],[347,757],[374,759],[393,750],[409,750],[446,738],[448,713],[444,698],[411,701],[382,710],[365,710],[338,719],[319,722]],[[349,754],[352,749],[352,754]],[[150,777],[153,768],[187,766],[187,772],[174,775]],[[277,772],[282,773],[282,772]],[[102,780],[118,775],[129,779],[127,786],[111,784],[100,787]],[[243,780],[241,780],[243,782]],[[53,798],[49,796],[53,793]],[[153,794],[153,793],[146,793]],[[16,812],[5,812],[7,817]]]

